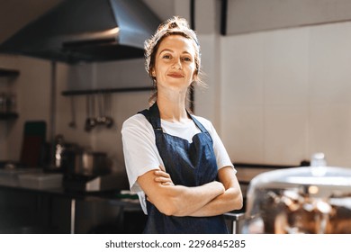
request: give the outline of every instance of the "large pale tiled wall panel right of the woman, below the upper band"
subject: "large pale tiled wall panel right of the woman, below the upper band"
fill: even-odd
[[[351,166],[351,23],[221,39],[220,134],[235,162]]]

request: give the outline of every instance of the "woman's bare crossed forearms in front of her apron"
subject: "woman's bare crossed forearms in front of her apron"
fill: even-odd
[[[160,166],[138,177],[138,183],[162,213],[173,216],[215,216],[242,207],[242,194],[231,166],[220,168],[219,181],[187,187],[173,184]]]

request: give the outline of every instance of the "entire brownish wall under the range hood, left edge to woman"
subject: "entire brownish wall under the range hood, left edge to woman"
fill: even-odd
[[[24,121],[47,121],[47,140],[50,140],[51,62],[37,58],[2,55],[0,67],[20,71],[20,76],[11,83],[2,80],[2,85],[6,86],[6,89],[2,86],[2,90],[16,94],[19,118],[14,121],[0,121],[0,160],[19,160]],[[121,124],[130,115],[148,106],[149,91],[111,94],[113,127],[107,129],[98,126],[90,132],[84,130],[87,116],[86,95],[64,96],[61,93],[72,89],[151,85],[144,70],[144,60],[130,59],[75,66],[57,63],[56,75],[55,135],[62,134],[67,142],[75,142],[82,147],[105,151],[112,158],[113,167],[123,169]],[[73,119],[72,99],[75,104],[76,128],[68,125]],[[97,104],[94,114],[95,116],[99,114]]]

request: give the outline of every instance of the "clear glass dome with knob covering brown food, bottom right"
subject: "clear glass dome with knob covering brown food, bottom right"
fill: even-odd
[[[311,166],[277,169],[248,186],[242,233],[351,233],[351,168]]]

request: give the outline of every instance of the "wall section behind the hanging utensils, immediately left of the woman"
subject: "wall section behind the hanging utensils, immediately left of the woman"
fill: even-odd
[[[143,59],[130,59],[106,63],[94,63],[69,67],[67,82],[58,86],[58,94],[64,90],[86,88],[116,88],[130,86],[149,86],[151,81],[144,70]],[[84,130],[86,112],[86,95],[58,95],[57,133],[64,135],[67,141],[77,142],[82,146],[108,153],[113,167],[124,168],[121,148],[121,125],[128,117],[148,107],[149,91],[113,93],[112,117],[114,125],[111,129],[103,125],[90,132]],[[98,102],[101,96],[95,97],[95,116],[99,115]],[[76,105],[76,129],[68,126],[72,120],[71,100]]]

